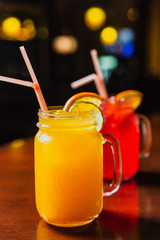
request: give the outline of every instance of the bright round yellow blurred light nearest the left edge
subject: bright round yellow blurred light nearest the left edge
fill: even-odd
[[[8,37],[16,37],[20,31],[21,22],[18,18],[9,17],[2,22],[2,31]]]

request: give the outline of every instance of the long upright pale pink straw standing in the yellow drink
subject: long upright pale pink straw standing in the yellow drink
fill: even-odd
[[[25,63],[26,63],[26,66],[27,66],[27,68],[28,68],[28,71],[29,71],[29,73],[30,73],[30,76],[31,76],[31,78],[32,78],[33,83],[36,84],[36,86],[38,86],[38,87],[35,87],[34,90],[35,90],[35,93],[36,93],[36,96],[37,96],[39,105],[40,105],[40,107],[41,107],[41,109],[42,109],[43,111],[48,111],[48,108],[47,108],[46,102],[45,102],[45,100],[44,100],[42,91],[41,91],[41,89],[40,89],[38,80],[37,80],[36,75],[35,75],[35,73],[34,73],[34,71],[33,71],[32,65],[31,65],[31,63],[30,63],[30,60],[29,60],[29,58],[28,58],[28,55],[27,55],[27,53],[26,53],[26,50],[25,50],[24,46],[21,46],[21,47],[20,47],[20,51],[21,51],[21,53],[22,53],[22,56],[23,56],[23,58],[24,58],[24,61],[25,61]]]

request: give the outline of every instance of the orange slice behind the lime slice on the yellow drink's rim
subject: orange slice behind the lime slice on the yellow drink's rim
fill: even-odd
[[[79,102],[79,101],[93,103],[99,107],[103,101],[103,97],[101,97],[100,95],[93,93],[93,92],[77,93],[68,99],[68,101],[65,103],[65,105],[63,107],[63,110],[68,111],[74,103]]]

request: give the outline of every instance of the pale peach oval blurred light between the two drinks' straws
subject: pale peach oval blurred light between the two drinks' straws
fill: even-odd
[[[72,54],[78,49],[78,42],[73,36],[57,36],[53,39],[52,47],[59,54]]]

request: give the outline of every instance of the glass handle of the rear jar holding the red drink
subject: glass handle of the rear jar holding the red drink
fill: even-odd
[[[143,143],[143,149],[139,153],[139,159],[147,158],[150,155],[152,145],[152,129],[150,120],[143,114],[137,114],[140,120],[140,129]]]

